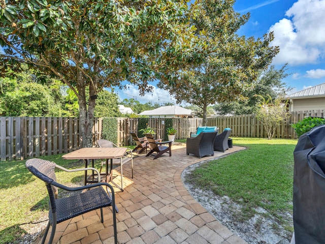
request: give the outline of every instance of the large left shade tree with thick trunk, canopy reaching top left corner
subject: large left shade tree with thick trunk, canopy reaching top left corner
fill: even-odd
[[[91,146],[95,99],[104,87],[127,80],[143,94],[155,72],[173,73],[202,50],[186,22],[187,1],[0,2],[2,65],[26,63],[73,90],[82,146]]]

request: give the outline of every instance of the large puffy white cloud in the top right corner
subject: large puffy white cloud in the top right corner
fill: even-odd
[[[325,55],[325,1],[299,0],[283,18],[269,29],[274,32],[272,45],[280,47],[274,64],[313,64]]]

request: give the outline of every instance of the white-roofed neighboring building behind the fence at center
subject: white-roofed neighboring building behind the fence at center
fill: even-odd
[[[153,110],[146,110],[139,115],[147,115],[150,118],[192,118],[192,110],[177,105],[164,106]]]

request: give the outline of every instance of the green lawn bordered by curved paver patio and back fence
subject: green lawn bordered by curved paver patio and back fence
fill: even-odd
[[[298,140],[233,138],[234,145],[246,150],[210,161],[193,170],[187,181],[218,196],[228,196],[242,206],[238,221],[244,221],[262,207],[288,230],[292,220],[283,213],[293,212],[293,151]]]

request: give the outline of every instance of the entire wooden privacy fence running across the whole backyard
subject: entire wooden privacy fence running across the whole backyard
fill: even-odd
[[[290,119],[277,128],[274,138],[297,139],[291,124],[307,116],[324,117],[324,110],[292,112]],[[94,119],[93,145],[102,138],[102,121],[102,118]],[[117,144],[132,145],[131,132],[138,132],[138,119],[117,118],[114,121],[117,121]],[[175,138],[184,139],[202,126],[202,118],[173,118],[172,124],[177,129]],[[156,138],[166,139],[164,118],[149,118],[148,126],[155,129]],[[267,137],[263,124],[254,114],[208,118],[208,126],[217,126],[220,132],[229,127],[232,137]],[[80,132],[79,118],[75,117],[0,117],[0,159],[22,160],[69,153],[81,147]]]

